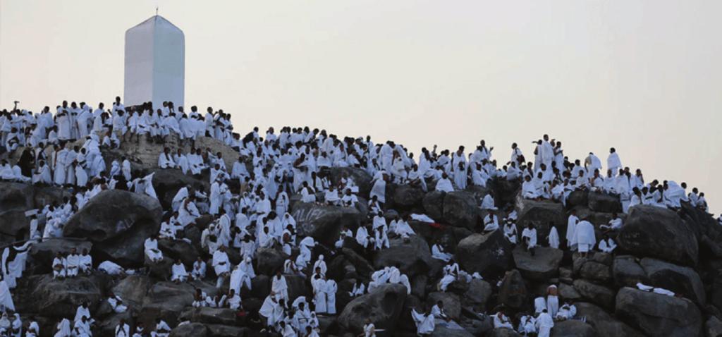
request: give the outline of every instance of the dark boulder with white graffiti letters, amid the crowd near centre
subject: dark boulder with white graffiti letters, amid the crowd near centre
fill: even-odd
[[[362,220],[361,213],[355,208],[316,203],[295,203],[291,215],[296,220],[298,237],[312,236],[328,247],[333,247],[338,240],[342,226],[356,229]]]

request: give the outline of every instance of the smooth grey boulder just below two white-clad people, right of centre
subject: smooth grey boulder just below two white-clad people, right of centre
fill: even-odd
[[[538,247],[534,256],[518,246],[513,251],[516,268],[526,279],[545,281],[556,277],[559,274],[559,264],[562,262],[564,253],[562,250]]]

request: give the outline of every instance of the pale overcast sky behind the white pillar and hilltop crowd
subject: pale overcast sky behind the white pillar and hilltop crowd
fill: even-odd
[[[722,1],[0,0],[0,107],[122,96],[125,31],[157,3],[186,35],[185,105],[240,131],[486,139],[504,161],[548,133],[722,209]]]

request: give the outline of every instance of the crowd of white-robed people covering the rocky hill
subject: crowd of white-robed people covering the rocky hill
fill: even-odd
[[[0,318],[0,332],[7,336],[38,336],[38,324],[33,322],[23,335],[22,321],[14,312],[11,289],[25,269],[25,258],[30,246],[40,240],[62,237],[64,224],[85,203],[106,189],[124,189],[157,198],[152,185],[153,175],[139,176],[131,161],[121,158],[106,166],[103,150],[117,148],[122,142],[146,138],[162,143],[171,134],[178,136],[184,144],[191,144],[191,152],[166,147],[157,159],[157,167],[176,168],[186,175],[204,176],[208,172],[209,191],[181,188],[173,198],[169,216],[165,216],[160,232],[149,237],[144,251],[152,262],[163,259],[158,248],[159,239],[187,240],[179,235],[183,229],[196,222],[201,215],[210,214],[214,221],[204,229],[201,245],[211,258],[204,261],[201,256],[192,266],[182,261],[173,263],[170,281],[186,282],[215,278],[217,288],[229,281],[228,292],[211,297],[199,289],[193,302],[194,307],[228,307],[243,310],[241,289],[251,288],[256,277],[253,261],[258,248],[279,248],[287,255],[294,256],[284,263],[282,271],[272,277],[271,294],[264,300],[259,314],[264,325],[284,337],[318,336],[320,333],[317,315],[336,314],[336,293],[338,286],[334,279],[326,277],[326,262],[323,255],[314,256],[313,248],[318,245],[313,237],[297,237],[296,222],[290,214],[290,197],[300,195],[305,203],[324,203],[334,206],[365,207],[370,219],[352,232],[342,228],[335,248],[342,248],[347,240],[355,240],[368,251],[389,247],[390,237],[409,240],[416,235],[409,222],[435,222],[425,214],[397,216],[387,222],[384,214],[386,184],[408,184],[424,191],[458,191],[469,185],[486,186],[490,179],[521,180],[521,196],[534,200],[550,200],[566,203],[570,193],[577,190],[599,191],[619,198],[622,211],[631,206],[648,204],[659,207],[679,208],[681,201],[707,210],[704,193],[693,188],[687,193],[685,183],[653,180],[645,182],[641,170],[632,173],[623,167],[615,149],[609,150],[606,170],[601,159],[590,153],[583,160],[571,161],[565,157],[560,141],[543,139],[534,142],[534,161],[527,162],[517,144],[511,146],[509,160],[497,162],[492,156],[493,147],[487,147],[482,140],[473,152],[466,154],[464,146],[455,152],[437,152],[423,148],[418,157],[404,146],[393,141],[374,144],[369,136],[365,138],[339,138],[325,130],[284,127],[277,134],[269,128],[266,134],[259,134],[258,128],[241,137],[234,132],[230,114],[212,108],[205,115],[192,107],[188,113],[183,107],[177,109],[170,102],[162,107],[149,103],[139,107],[124,107],[120,97],[106,109],[99,103],[96,109],[85,103],[63,102],[51,113],[48,107],[40,113],[27,110],[3,110],[0,113],[0,148],[17,158],[11,164],[8,159],[0,162],[0,180],[17,181],[40,185],[56,185],[71,188],[73,196],[63,203],[53,203],[43,209],[30,211],[30,234],[22,246],[5,248],[0,281],[0,305],[6,314]],[[196,149],[193,144],[198,137],[212,137],[222,141],[238,152],[238,161],[227,167],[220,152]],[[235,159],[235,158],[234,158]],[[327,172],[331,167],[357,167],[373,177],[369,195],[360,196],[360,189],[350,175],[331,182]],[[229,183],[237,181],[243,186],[241,193],[232,193]],[[359,197],[367,199],[360,204]],[[534,226],[523,229],[521,237],[517,232],[516,212],[513,209],[499,210],[492,194],[484,197],[479,205],[486,211],[483,219],[484,232],[503,231],[514,245],[522,245],[533,255],[540,245]],[[499,219],[503,216],[503,219]],[[40,224],[39,219],[44,219]],[[719,220],[722,224],[722,216]],[[614,232],[623,226],[622,220],[614,219],[604,226],[605,232]],[[560,247],[557,229],[552,227],[545,238],[553,248]],[[588,254],[595,247],[611,253],[615,242],[608,235],[596,240],[595,229],[590,222],[579,219],[574,211],[569,216],[565,237],[567,248]],[[294,248],[300,253],[293,254]],[[333,248],[331,248],[333,249]],[[242,261],[232,266],[227,250],[236,250]],[[432,245],[432,257],[445,261],[443,277],[438,289],[445,291],[454,281],[482,279],[479,273],[469,274],[453,261],[453,255],[445,252],[438,242]],[[10,261],[10,256],[14,259]],[[210,269],[206,263],[210,264]],[[92,258],[83,250],[72,250],[69,254],[58,253],[53,260],[53,277],[73,278],[91,273]],[[126,270],[113,261],[102,261],[97,270],[110,275],[124,275],[138,271]],[[208,271],[212,270],[212,273]],[[298,297],[290,300],[285,276],[308,277],[313,287],[313,298]],[[352,292],[357,297],[373,292],[380,284],[396,283],[406,286],[411,292],[409,278],[396,266],[388,266],[370,275],[370,282],[358,281]],[[642,285],[643,286],[643,285]],[[641,289],[641,288],[640,288]],[[123,300],[112,295],[107,299],[113,310],[128,310]],[[575,307],[567,302],[559,307],[556,287],[550,286],[546,298],[535,300],[536,312],[523,316],[516,329],[520,333],[538,333],[549,336],[554,320],[575,318]],[[9,315],[8,315],[9,313]],[[8,318],[9,317],[9,318]],[[431,333],[436,324],[452,326],[454,323],[445,315],[443,303],[427,310],[414,310],[418,333]],[[511,326],[503,312],[493,315],[495,327]],[[87,305],[78,307],[73,320],[64,319],[58,323],[55,336],[91,336],[93,320]],[[168,336],[170,327],[162,320],[155,329],[146,330],[136,325],[131,331],[128,323],[121,322],[116,328],[116,337]],[[365,326],[366,337],[375,336],[373,323]]]

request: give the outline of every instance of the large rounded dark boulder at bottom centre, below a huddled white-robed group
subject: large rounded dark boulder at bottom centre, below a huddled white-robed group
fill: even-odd
[[[339,315],[339,325],[344,331],[362,333],[366,319],[370,319],[377,329],[387,329],[393,334],[396,320],[406,299],[406,287],[401,284],[383,284],[370,294],[365,294],[349,302]]]

